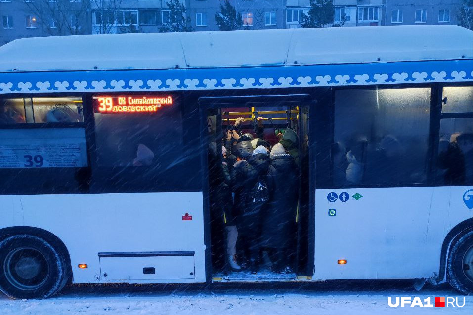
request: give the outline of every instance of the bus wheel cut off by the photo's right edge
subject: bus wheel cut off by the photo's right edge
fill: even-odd
[[[447,275],[453,288],[464,294],[473,294],[473,231],[452,244]]]

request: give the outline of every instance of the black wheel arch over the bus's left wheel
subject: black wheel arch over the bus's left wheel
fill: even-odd
[[[8,227],[0,229],[0,241],[5,239],[8,236],[18,235],[18,234],[28,234],[32,236],[38,236],[49,242],[52,246],[58,248],[64,254],[64,259],[66,260],[66,270],[67,276],[69,278],[68,283],[72,282],[72,265],[71,265],[71,256],[67,250],[64,242],[55,234],[46,231],[44,229],[36,227],[27,227],[27,226],[18,226],[18,227]]]

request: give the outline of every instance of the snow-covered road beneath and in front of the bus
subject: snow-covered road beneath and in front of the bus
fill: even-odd
[[[387,290],[387,287],[389,289]],[[448,287],[426,288],[420,292],[405,283],[344,283],[244,286],[69,286],[49,300],[14,301],[0,296],[1,315],[122,315],[122,314],[473,314],[473,296],[466,296],[464,307],[397,307],[387,297],[458,297]]]

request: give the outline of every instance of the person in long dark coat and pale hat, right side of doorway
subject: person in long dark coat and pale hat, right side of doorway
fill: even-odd
[[[271,149],[266,184],[269,199],[262,213],[261,247],[273,252],[272,270],[292,272],[299,198],[298,168],[281,143]]]

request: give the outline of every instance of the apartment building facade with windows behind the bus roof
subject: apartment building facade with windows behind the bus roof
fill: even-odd
[[[87,14],[71,14],[64,31],[48,15],[29,10],[26,1],[66,1],[71,12],[87,1]],[[240,12],[245,29],[301,27],[309,0],[182,0],[194,31],[218,30],[215,14],[229,1]],[[334,0],[334,22],[344,27],[457,24],[461,0]],[[169,19],[167,0],[0,0],[0,45],[22,37],[159,32]],[[77,14],[76,14],[77,15]],[[69,20],[70,19],[70,20]],[[48,20],[44,23],[44,20]],[[55,25],[56,24],[56,25]],[[59,30],[61,29],[61,30]]]

